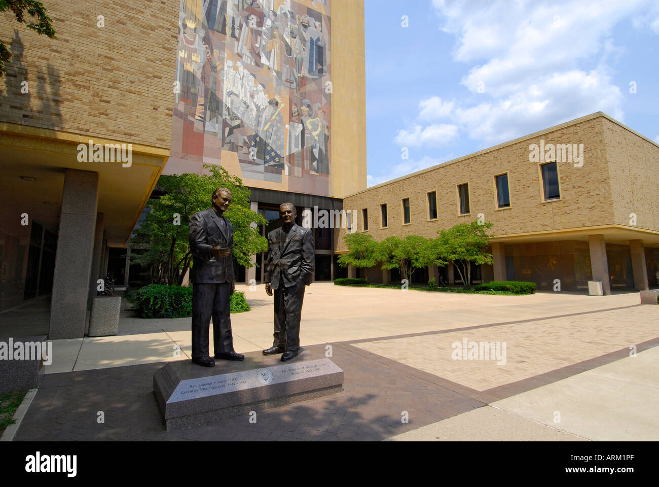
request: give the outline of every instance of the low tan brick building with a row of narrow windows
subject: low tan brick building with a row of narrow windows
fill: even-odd
[[[544,150],[543,150],[544,149]],[[345,197],[355,231],[435,237],[441,228],[492,222],[494,265],[476,282],[527,280],[551,290],[585,291],[602,281],[645,290],[659,278],[659,146],[598,112]],[[364,218],[365,217],[365,218]],[[335,237],[347,251],[346,230]],[[356,275],[351,269],[351,275]],[[419,271],[417,280],[451,266]],[[396,276],[371,269],[376,282]],[[399,278],[399,277],[398,277]]]

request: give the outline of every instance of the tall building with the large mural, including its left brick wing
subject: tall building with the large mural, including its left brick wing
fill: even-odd
[[[361,1],[42,3],[56,40],[0,14],[0,312],[48,300],[49,338],[82,337],[98,278],[128,282],[161,174],[224,166],[264,232],[283,201],[340,209],[366,187]]]

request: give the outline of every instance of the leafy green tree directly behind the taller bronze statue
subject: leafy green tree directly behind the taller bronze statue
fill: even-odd
[[[181,284],[192,264],[188,243],[188,222],[192,214],[210,208],[211,197],[218,187],[226,187],[233,201],[226,218],[233,225],[233,257],[246,268],[253,267],[252,255],[265,251],[268,241],[262,237],[259,225],[266,220],[250,209],[250,191],[240,178],[231,176],[225,168],[205,165],[210,174],[161,176],[160,199],[150,199],[148,214],[134,230],[131,245],[142,249],[130,254],[132,262],[150,269],[154,284]]]

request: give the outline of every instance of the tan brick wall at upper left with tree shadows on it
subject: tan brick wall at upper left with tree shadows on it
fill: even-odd
[[[0,121],[169,150],[179,1],[43,5],[57,40],[0,14],[0,35],[13,52],[0,80]]]

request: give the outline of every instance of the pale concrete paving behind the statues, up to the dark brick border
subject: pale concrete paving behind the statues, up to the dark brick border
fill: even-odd
[[[231,315],[234,348],[253,352],[272,346],[273,305],[265,286],[236,286],[252,311]],[[639,294],[584,296],[540,293],[530,296],[488,296],[395,289],[353,288],[314,283],[307,288],[302,309],[302,346],[395,337],[589,313],[638,304]],[[85,337],[53,342],[54,359],[46,373],[72,372],[189,360],[190,318],[140,319],[123,300],[116,337]],[[212,327],[211,327],[212,343]],[[180,347],[179,357],[175,350]],[[212,350],[210,350],[212,352]]]

